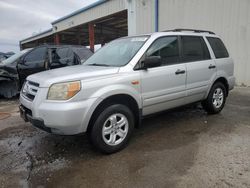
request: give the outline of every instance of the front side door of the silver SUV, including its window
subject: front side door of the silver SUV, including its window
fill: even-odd
[[[180,62],[178,37],[156,39],[145,56],[160,56],[162,65],[140,70],[143,115],[181,105],[186,96],[186,65]]]

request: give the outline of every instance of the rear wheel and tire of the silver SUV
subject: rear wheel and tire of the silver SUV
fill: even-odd
[[[225,85],[216,82],[210,89],[207,99],[201,103],[202,107],[208,114],[218,114],[224,108],[226,97]]]

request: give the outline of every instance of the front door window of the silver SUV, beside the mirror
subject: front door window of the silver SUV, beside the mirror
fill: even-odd
[[[180,62],[178,37],[169,36],[156,39],[147,50],[146,56],[160,56],[162,66]]]

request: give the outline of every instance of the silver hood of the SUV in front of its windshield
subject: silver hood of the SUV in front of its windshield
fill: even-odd
[[[118,67],[76,65],[33,74],[27,80],[39,83],[40,87],[50,87],[51,84],[59,82],[98,79],[116,74],[118,71]]]

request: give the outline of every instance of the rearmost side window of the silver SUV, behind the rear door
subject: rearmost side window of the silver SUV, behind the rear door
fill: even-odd
[[[229,54],[224,43],[219,38],[207,37],[216,58],[227,58]]]

